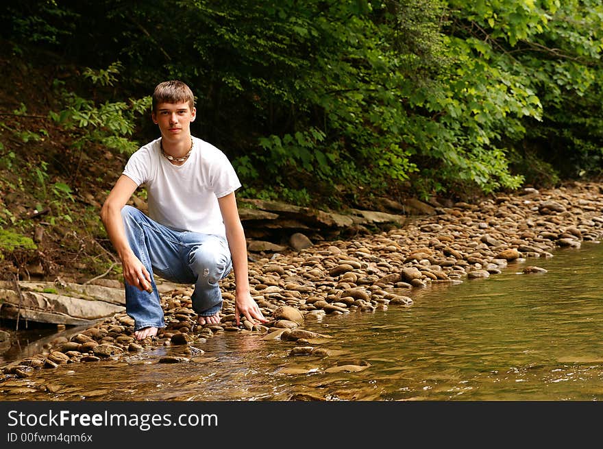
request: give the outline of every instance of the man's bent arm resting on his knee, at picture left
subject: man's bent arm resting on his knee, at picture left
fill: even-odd
[[[123,277],[126,282],[137,289],[148,290],[151,288],[151,275],[130,249],[130,245],[128,245],[125,238],[123,220],[121,219],[121,209],[137,187],[136,182],[126,175],[121,175],[103,204],[101,220],[115,251],[121,259]]]

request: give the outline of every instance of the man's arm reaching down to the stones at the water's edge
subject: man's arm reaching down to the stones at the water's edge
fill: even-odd
[[[247,317],[252,323],[265,323],[258,304],[251,298],[249,293],[249,267],[247,265],[247,243],[241,219],[238,217],[236,199],[234,192],[218,198],[222,219],[226,228],[226,239],[230,254],[232,256],[232,267],[234,269],[234,282],[236,284],[234,300],[234,318],[236,324],[241,322],[241,315]]]

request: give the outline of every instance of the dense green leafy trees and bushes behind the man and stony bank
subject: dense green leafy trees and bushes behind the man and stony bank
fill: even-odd
[[[193,132],[227,150],[249,195],[341,204],[601,171],[600,1],[29,0],[0,15],[6,38],[84,67],[91,86],[56,82],[50,114],[81,147],[130,154],[143,95],[181,79]]]

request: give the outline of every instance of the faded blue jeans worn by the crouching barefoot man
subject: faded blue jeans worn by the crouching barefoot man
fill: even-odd
[[[191,299],[199,315],[210,317],[220,311],[222,292],[218,282],[232,270],[226,239],[171,230],[132,206],[124,206],[121,217],[127,242],[151,274],[153,286],[153,293],[148,293],[125,282],[125,308],[134,319],[134,330],[165,327],[153,273],[170,282],[195,284]]]

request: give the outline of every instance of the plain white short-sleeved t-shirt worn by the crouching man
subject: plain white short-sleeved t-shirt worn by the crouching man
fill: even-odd
[[[241,187],[222,151],[193,137],[193,151],[180,166],[162,156],[160,138],[140,147],[123,174],[147,184],[149,217],[173,230],[225,236],[218,198]]]

